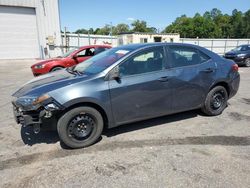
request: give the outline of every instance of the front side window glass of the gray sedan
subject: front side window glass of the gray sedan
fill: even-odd
[[[128,76],[160,71],[164,66],[163,54],[163,47],[154,47],[138,53],[119,65],[120,74]]]

